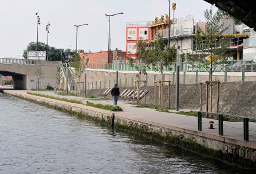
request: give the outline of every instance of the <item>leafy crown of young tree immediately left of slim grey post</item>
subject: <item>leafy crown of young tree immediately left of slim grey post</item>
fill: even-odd
[[[150,62],[156,67],[156,71],[161,73],[163,79],[164,66],[168,66],[175,60],[175,45],[167,47],[162,36],[158,35],[158,39],[151,43],[148,56]]]

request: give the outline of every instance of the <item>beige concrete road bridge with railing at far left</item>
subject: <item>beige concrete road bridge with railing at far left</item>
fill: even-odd
[[[12,76],[14,89],[55,87],[58,66],[59,61],[0,58],[0,75]]]

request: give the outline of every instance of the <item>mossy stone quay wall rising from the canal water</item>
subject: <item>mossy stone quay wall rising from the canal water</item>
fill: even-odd
[[[16,94],[12,91],[5,92],[41,105],[103,121],[109,125],[112,122],[112,112],[107,110],[37,96]],[[252,144],[248,142],[237,142],[224,137],[150,123],[149,121],[142,122],[141,120],[130,119],[130,117],[123,115],[122,112],[115,114],[114,123],[115,128],[125,128],[136,134],[157,139],[160,142],[175,144],[184,149],[195,151],[207,157],[217,158],[229,164],[243,166],[244,168],[256,168],[256,148],[250,148]]]

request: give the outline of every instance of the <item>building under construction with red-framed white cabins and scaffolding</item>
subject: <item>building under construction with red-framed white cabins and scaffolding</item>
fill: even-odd
[[[229,40],[229,53],[227,54],[232,55],[233,60],[243,59],[243,40],[250,36],[249,28],[244,24],[235,25],[232,18],[222,18],[220,20],[220,25],[221,24],[224,24],[223,27],[229,26],[229,28],[226,29],[226,31],[224,31],[224,33],[220,36],[221,38]],[[143,28],[144,31],[147,31],[144,32],[144,34],[146,34],[145,37],[141,37],[139,35],[141,32],[138,29],[141,28]],[[136,34],[133,35],[133,37],[130,36],[130,34],[133,34],[133,32],[130,31],[131,29],[136,30]],[[170,39],[168,39],[169,29]],[[136,42],[138,40],[152,42],[157,38],[158,34],[163,37],[166,45],[168,40],[170,40],[170,46],[174,44],[180,46],[181,53],[195,53],[195,36],[196,34],[206,34],[206,23],[203,21],[194,20],[193,16],[174,18],[171,20],[169,16],[165,14],[159,18],[155,17],[153,21],[135,22],[133,25],[131,25],[131,23],[127,23],[126,32],[126,54],[127,56],[132,55],[130,57],[135,57],[135,53],[137,51]],[[184,57],[181,56],[180,61],[185,61]]]

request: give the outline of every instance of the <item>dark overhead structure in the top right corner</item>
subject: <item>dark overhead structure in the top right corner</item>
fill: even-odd
[[[204,0],[231,14],[256,31],[255,0]]]

